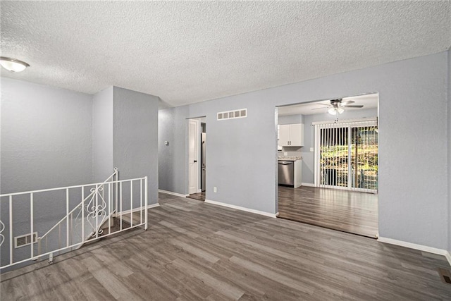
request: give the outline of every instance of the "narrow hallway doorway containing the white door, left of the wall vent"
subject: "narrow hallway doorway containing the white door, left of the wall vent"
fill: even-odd
[[[206,117],[188,120],[188,197],[205,200]]]

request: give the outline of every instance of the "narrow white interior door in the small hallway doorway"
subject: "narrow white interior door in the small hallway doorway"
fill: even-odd
[[[188,193],[197,192],[199,187],[199,120],[188,123]]]

